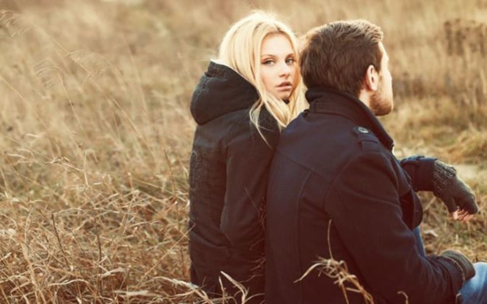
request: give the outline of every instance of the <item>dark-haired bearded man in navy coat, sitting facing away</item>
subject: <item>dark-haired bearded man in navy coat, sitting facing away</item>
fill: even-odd
[[[306,36],[300,65],[310,108],[283,131],[269,176],[267,304],[365,303],[319,267],[304,275],[319,258],[345,262],[375,304],[487,303],[487,264],[453,250],[426,256],[415,236],[416,191],[433,191],[456,219],[477,206],[441,161],[393,156],[375,117],[393,109],[382,36],[364,20]]]

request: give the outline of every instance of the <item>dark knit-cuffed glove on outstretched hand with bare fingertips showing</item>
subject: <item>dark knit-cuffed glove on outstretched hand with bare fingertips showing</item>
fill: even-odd
[[[479,210],[472,189],[457,177],[455,168],[438,160],[434,162],[433,194],[447,205],[450,213],[460,208],[473,215]]]

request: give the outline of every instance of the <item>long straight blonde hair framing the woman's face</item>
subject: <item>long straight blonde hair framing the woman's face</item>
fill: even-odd
[[[262,107],[269,111],[282,129],[307,106],[298,64],[294,82],[297,85],[287,104],[267,92],[264,87],[261,78],[261,47],[264,38],[272,34],[282,34],[289,39],[298,62],[299,45],[295,34],[274,15],[263,11],[255,11],[230,27],[220,44],[218,58],[257,89],[260,98],[250,108],[249,115],[264,141],[259,125]]]

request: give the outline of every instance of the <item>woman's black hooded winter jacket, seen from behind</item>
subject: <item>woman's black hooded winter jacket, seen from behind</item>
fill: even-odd
[[[263,293],[263,201],[273,147],[280,135],[265,110],[261,131],[250,122],[257,90],[232,69],[210,62],[191,101],[198,123],[189,172],[191,282],[219,294],[220,271]],[[259,303],[263,296],[255,298]],[[254,302],[252,302],[254,303]]]

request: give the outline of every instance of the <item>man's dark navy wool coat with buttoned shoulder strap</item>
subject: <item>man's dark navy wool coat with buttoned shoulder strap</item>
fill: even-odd
[[[391,137],[356,97],[310,89],[306,98],[310,109],[282,132],[269,173],[266,303],[347,303],[335,279],[317,270],[295,283],[319,257],[344,261],[376,304],[404,304],[404,294],[414,304],[453,303],[461,272],[417,251],[412,229],[422,207],[411,160],[408,174]],[[359,293],[347,297],[365,303]]]

